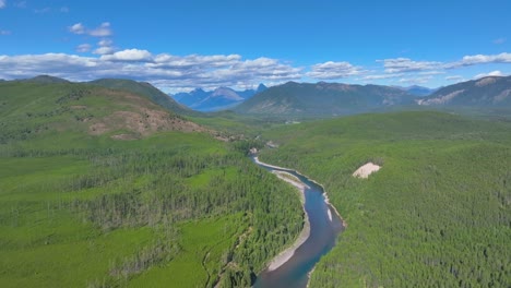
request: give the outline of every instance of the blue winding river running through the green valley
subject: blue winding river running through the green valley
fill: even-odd
[[[252,160],[269,171],[292,173],[306,185],[304,209],[310,224],[309,237],[289,260],[277,268],[263,271],[253,287],[306,287],[316,263],[335,245],[338,233],[344,229],[343,223],[335,208],[325,201],[321,185],[295,170],[261,163],[255,156]]]

